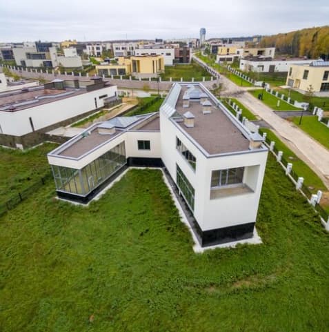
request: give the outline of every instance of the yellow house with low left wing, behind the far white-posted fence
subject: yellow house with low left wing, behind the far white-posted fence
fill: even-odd
[[[158,77],[164,70],[164,60],[162,55],[136,55],[119,57],[117,64],[101,64],[95,66],[95,68],[97,75]]]

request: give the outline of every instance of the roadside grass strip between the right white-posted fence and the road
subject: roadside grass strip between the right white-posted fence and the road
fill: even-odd
[[[292,169],[300,176],[304,178],[304,184],[310,188],[312,193],[317,193],[317,191],[326,191],[326,186],[323,184],[322,180],[317,176],[315,172],[305,163],[303,160],[299,159],[295,153],[286,146],[286,144],[281,141],[272,130],[267,128],[261,128],[261,131],[267,133],[268,139],[270,141],[275,141],[275,147],[277,150],[283,152],[283,157],[292,163]]]

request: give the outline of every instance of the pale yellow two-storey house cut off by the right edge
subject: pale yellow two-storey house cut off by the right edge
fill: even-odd
[[[312,86],[314,92],[329,91],[329,61],[291,65],[286,84],[304,91],[307,91],[309,86]]]

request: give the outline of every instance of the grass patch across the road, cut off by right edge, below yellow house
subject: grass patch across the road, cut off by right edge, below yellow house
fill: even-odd
[[[317,116],[303,117],[301,125],[299,125],[299,119],[300,117],[293,117],[294,123],[329,149],[329,128],[317,121]]]

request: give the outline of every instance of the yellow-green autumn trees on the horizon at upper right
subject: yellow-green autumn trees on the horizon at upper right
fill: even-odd
[[[275,47],[277,54],[329,60],[329,26],[306,28],[278,35],[265,36],[261,47]]]

